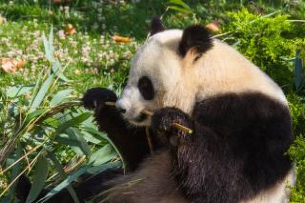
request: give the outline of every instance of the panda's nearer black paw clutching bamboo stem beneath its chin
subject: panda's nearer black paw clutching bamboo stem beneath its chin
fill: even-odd
[[[151,127],[156,132],[168,133],[170,136],[178,138],[187,138],[190,136],[188,135],[188,131],[178,129],[174,126],[174,123],[190,129],[193,126],[190,117],[182,110],[175,107],[165,107],[153,113]]]

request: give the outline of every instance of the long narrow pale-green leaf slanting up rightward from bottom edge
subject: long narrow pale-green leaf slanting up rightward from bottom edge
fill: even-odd
[[[84,165],[80,169],[76,170],[74,173],[67,176],[67,178],[59,183],[56,187],[54,187],[50,192],[48,192],[42,199],[40,199],[38,202],[45,202],[48,199],[50,199],[53,195],[57,194],[60,190],[63,188],[69,186],[73,181],[76,180],[80,175],[85,173],[90,168],[90,165]]]

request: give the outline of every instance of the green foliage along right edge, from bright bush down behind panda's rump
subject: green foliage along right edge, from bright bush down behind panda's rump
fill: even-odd
[[[228,12],[223,39],[231,43],[250,61],[253,61],[285,91],[293,119],[296,140],[289,150],[297,169],[296,187],[292,189],[290,202],[305,200],[305,72],[296,50],[305,46],[296,25],[288,15],[274,12],[255,15],[246,8]],[[301,53],[301,56],[304,53]]]

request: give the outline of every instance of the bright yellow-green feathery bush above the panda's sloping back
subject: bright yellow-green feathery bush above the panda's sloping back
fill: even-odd
[[[264,70],[285,90],[293,82],[295,51],[305,45],[304,39],[296,36],[295,27],[288,15],[274,12],[268,15],[255,15],[247,9],[228,12],[229,19],[224,32],[225,38],[250,61]]]

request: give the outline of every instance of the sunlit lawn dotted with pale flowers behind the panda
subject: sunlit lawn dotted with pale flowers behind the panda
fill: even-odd
[[[36,80],[45,65],[40,36],[53,26],[56,55],[62,64],[68,64],[65,74],[74,81],[76,90],[83,92],[91,86],[110,84],[114,88],[120,87],[126,81],[133,53],[146,39],[151,16],[164,14],[169,3],[154,0],[114,2],[75,0],[68,5],[57,5],[43,0],[0,0],[0,14],[7,20],[0,26],[0,57],[27,61],[15,74],[1,73],[0,86]],[[239,1],[227,3],[228,6],[225,1],[204,5],[198,2],[192,1],[190,5],[197,14],[196,20],[201,23],[222,19],[224,11],[237,10],[241,6]],[[259,8],[263,9],[263,5]],[[264,11],[276,9],[269,6]],[[183,28],[194,20],[191,15],[170,10],[164,21],[169,28]],[[77,34],[64,37],[62,33],[68,23],[75,26]],[[133,42],[116,43],[111,39],[114,34],[131,37]]]

